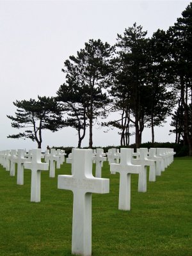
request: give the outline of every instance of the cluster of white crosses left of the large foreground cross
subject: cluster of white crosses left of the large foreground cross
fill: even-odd
[[[47,161],[50,162],[49,177],[55,177],[55,162],[54,157],[60,164],[65,160],[65,152],[51,148],[51,154],[46,152]],[[26,158],[25,156],[28,156]],[[64,156],[64,157],[63,157]],[[17,163],[17,184],[24,184],[24,168],[31,170],[31,202],[40,202],[40,172],[42,170],[49,170],[49,163],[42,163],[41,159],[44,155],[40,149],[29,150],[28,154],[19,149],[6,150],[0,153],[0,164],[6,170],[10,170],[10,176],[15,176],[15,163]]]

